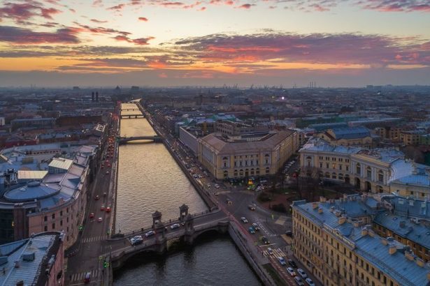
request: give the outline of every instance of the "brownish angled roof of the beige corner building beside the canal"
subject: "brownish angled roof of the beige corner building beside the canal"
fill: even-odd
[[[292,135],[292,130],[281,130],[278,133],[268,133],[268,135],[257,141],[236,141],[229,142],[227,138],[217,136],[216,133],[211,133],[201,138],[202,142],[205,142],[219,153],[230,153],[230,152],[246,152],[246,151],[268,151],[271,150],[277,144],[280,144],[287,137]]]

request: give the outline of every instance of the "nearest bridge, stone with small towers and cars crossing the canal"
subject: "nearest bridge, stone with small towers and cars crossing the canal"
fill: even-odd
[[[164,253],[175,242],[185,242],[192,244],[197,236],[205,232],[229,231],[229,216],[224,211],[207,211],[198,215],[188,213],[188,206],[180,206],[180,218],[175,221],[162,222],[162,213],[155,211],[152,213],[152,227],[142,228],[136,232],[128,234],[116,234],[108,239],[109,253],[104,253],[103,257],[109,257],[110,265],[113,269],[120,268],[130,257],[138,253],[152,252]],[[180,227],[171,229],[173,223],[180,224]],[[153,230],[154,236],[145,237],[145,233]],[[133,236],[141,235],[143,243],[132,246],[129,239]],[[115,237],[120,236],[120,237]]]

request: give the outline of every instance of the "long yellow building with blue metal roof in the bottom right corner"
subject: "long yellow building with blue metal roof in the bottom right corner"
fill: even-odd
[[[367,225],[377,206],[359,196],[293,202],[294,256],[325,286],[428,285],[423,259]]]

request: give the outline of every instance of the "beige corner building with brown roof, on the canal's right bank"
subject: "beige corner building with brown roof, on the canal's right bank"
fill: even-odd
[[[278,172],[297,148],[297,133],[292,130],[212,133],[199,139],[199,161],[217,179],[264,176]]]

